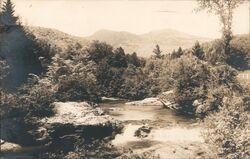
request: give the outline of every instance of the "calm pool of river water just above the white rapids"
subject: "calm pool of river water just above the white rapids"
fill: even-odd
[[[101,108],[104,109],[110,116],[119,121],[142,121],[151,120],[159,122],[158,124],[183,125],[195,123],[195,119],[177,115],[170,109],[165,109],[162,106],[135,106],[120,103],[103,103]]]

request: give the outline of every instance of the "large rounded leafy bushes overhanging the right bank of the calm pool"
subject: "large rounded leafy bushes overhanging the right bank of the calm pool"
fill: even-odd
[[[243,92],[236,78],[237,71],[228,65],[213,66],[192,55],[165,64],[170,68],[159,71],[160,92],[173,89],[174,96],[168,100],[177,104],[178,111],[205,117],[218,110],[225,95]]]

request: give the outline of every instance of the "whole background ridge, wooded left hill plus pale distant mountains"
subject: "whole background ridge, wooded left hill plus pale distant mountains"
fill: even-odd
[[[111,44],[114,48],[122,47],[126,53],[136,52],[139,56],[149,57],[156,44],[160,45],[164,54],[172,52],[173,49],[190,48],[195,41],[206,42],[211,39],[201,38],[175,30],[152,31],[142,35],[136,35],[129,32],[115,32],[109,30],[100,30],[89,37],[72,36],[55,29],[42,27],[28,27],[31,32],[40,40],[48,41],[52,45],[65,48],[69,44],[76,42],[87,46],[93,40],[99,40]]]

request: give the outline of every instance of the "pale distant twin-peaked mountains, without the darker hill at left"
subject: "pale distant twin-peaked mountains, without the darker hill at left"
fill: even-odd
[[[158,44],[163,53],[170,53],[174,49],[190,48],[198,40],[200,43],[212,39],[189,35],[172,29],[156,30],[146,34],[132,34],[129,32],[116,32],[100,30],[95,32],[87,40],[99,40],[111,44],[114,48],[122,47],[126,53],[136,52],[139,56],[149,57],[155,45]]]

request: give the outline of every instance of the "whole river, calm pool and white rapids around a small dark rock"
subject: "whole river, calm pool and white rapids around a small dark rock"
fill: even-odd
[[[126,105],[123,101],[105,102],[101,108],[122,122],[124,130],[112,144],[140,154],[153,151],[161,158],[199,158],[207,153],[202,138],[202,126],[191,117],[176,114],[162,106]],[[151,128],[147,137],[136,137],[140,127]],[[204,156],[203,156],[204,157]]]

